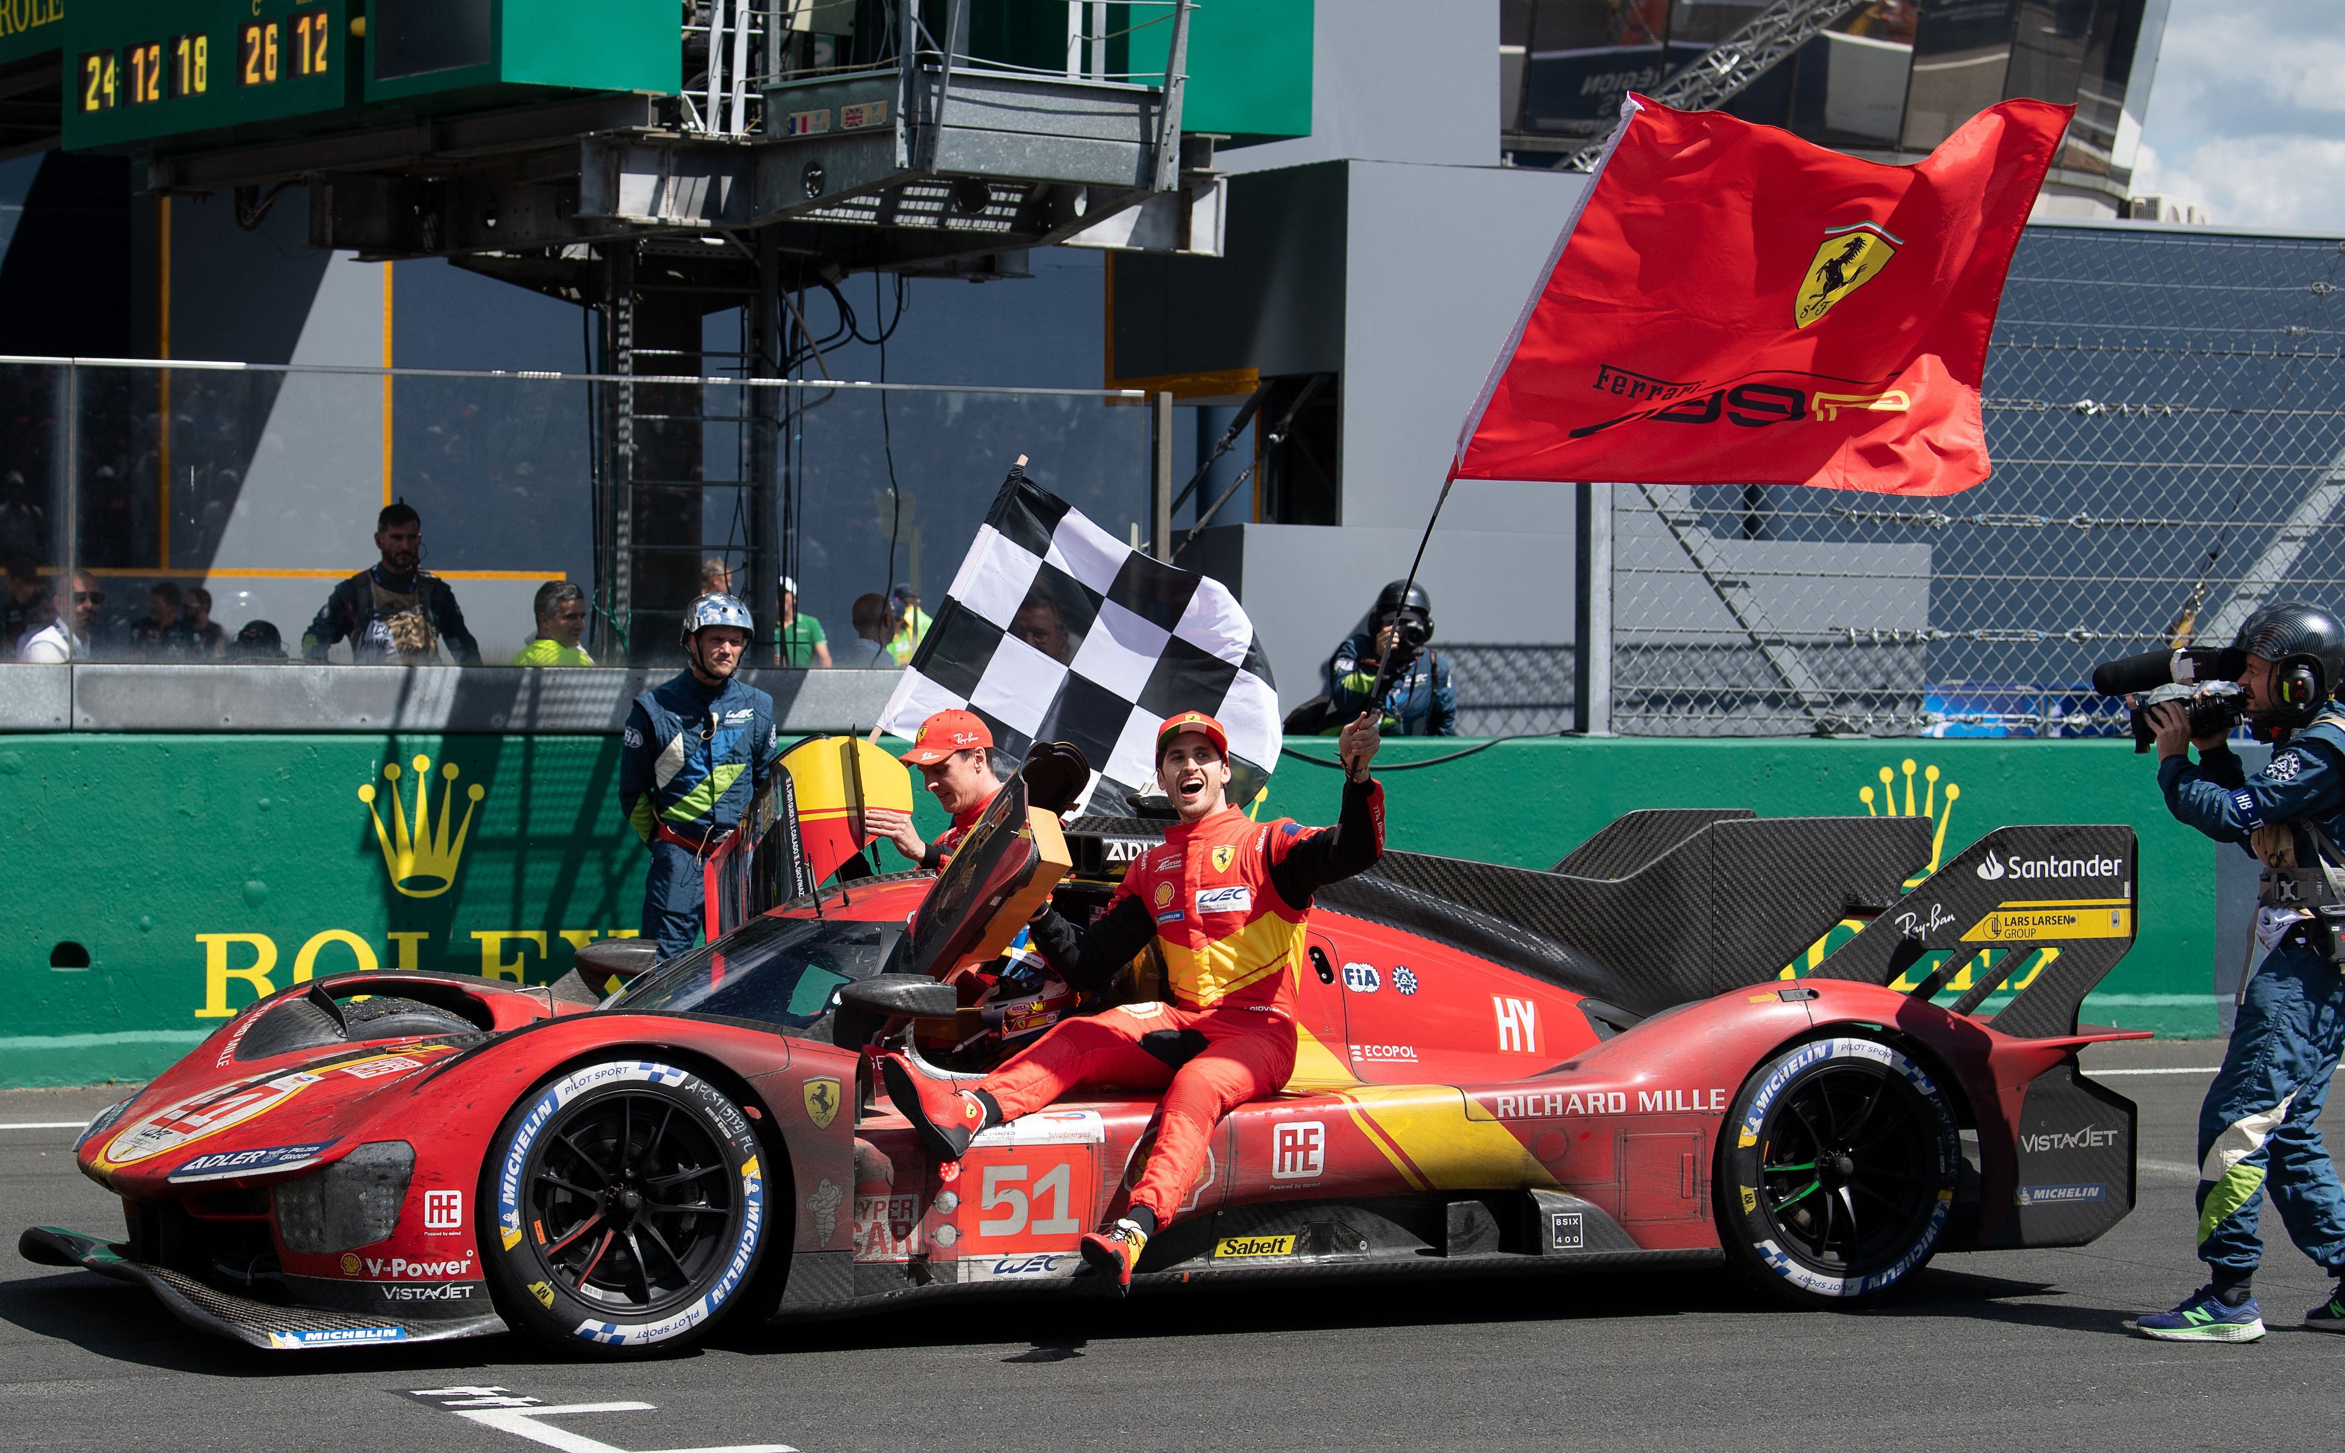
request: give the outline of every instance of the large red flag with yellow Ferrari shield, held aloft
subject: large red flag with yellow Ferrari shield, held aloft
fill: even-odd
[[[1883,167],[1644,96],[1466,415],[1452,479],[1986,479],[1979,371],[2073,106]]]

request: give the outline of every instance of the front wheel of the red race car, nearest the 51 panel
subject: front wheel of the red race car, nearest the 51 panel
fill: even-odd
[[[530,1089],[481,1167],[481,1268],[516,1329],[596,1357],[699,1340],[748,1300],[772,1207],[762,1145],[708,1080],[650,1059]]]

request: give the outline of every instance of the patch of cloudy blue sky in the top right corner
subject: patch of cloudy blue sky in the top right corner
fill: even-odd
[[[2174,0],[2134,192],[2228,228],[2345,232],[2345,5]]]

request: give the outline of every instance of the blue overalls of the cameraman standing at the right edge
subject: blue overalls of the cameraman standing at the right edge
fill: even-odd
[[[2157,765],[2167,810],[2218,843],[2247,845],[2265,824],[2310,822],[2345,843],[2345,716],[2326,709],[2247,777],[2230,749]],[[2298,857],[2298,861],[2305,861]],[[2277,939],[2247,984],[2223,1068],[2200,1106],[2197,1253],[2216,1282],[2244,1282],[2263,1258],[2256,1235],[2270,1192],[2289,1239],[2329,1275],[2345,1275],[2345,1185],[2319,1113],[2345,1047],[2345,974],[2319,930],[2258,915]]]

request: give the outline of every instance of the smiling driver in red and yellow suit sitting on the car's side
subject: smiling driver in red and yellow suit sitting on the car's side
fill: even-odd
[[[1332,829],[1252,822],[1229,805],[1229,732],[1182,711],[1156,732],[1156,782],[1180,822],[1123,873],[1107,911],[1076,932],[1044,908],[1034,944],[1058,974],[1093,991],[1158,939],[1172,1002],[1121,1005],[1055,1023],[976,1087],[905,1054],[879,1056],[889,1099],[943,1160],[983,1129],[1032,1115],[1083,1084],[1163,1089],[1156,1150],[1130,1209],[1081,1242],[1116,1296],[1149,1237],[1172,1221],[1205,1160],[1212,1127],[1245,1101],[1278,1094],[1294,1073],[1294,984],[1311,894],[1384,852],[1384,786],[1367,775],[1381,737],[1360,714],[1339,742],[1344,805]]]

